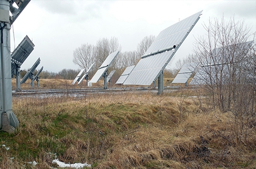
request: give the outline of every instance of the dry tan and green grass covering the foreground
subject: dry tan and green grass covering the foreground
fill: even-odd
[[[231,115],[198,92],[13,98],[20,127],[0,133],[0,168],[57,167],[55,154],[92,168],[255,168],[255,129],[238,146]]]

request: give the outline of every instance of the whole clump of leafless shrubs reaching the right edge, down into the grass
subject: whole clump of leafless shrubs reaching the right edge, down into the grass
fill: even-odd
[[[234,142],[246,142],[256,114],[255,51],[244,20],[234,19],[204,25],[207,38],[197,40],[195,54],[205,82],[203,89],[211,103],[222,112],[231,112]],[[254,39],[254,37],[253,37]]]

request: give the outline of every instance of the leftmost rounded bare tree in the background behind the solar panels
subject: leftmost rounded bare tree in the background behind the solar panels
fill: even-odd
[[[88,43],[82,44],[73,52],[73,62],[77,64],[80,68],[88,69],[92,65],[92,63],[95,62],[93,52],[93,45]]]

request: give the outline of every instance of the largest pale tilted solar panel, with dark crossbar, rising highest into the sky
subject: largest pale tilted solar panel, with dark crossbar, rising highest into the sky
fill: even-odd
[[[123,84],[151,85],[153,81],[156,81],[199,20],[201,12],[191,15],[160,32]],[[173,46],[176,46],[175,50]]]

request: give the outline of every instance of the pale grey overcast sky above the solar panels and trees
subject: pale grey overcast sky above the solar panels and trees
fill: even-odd
[[[44,70],[55,73],[64,68],[77,70],[80,68],[73,63],[73,51],[81,44],[96,45],[99,39],[116,37],[121,52],[134,51],[145,36],[157,36],[201,10],[201,18],[171,65],[193,53],[193,43],[205,34],[203,24],[209,20],[245,19],[251,33],[256,30],[256,1],[31,0],[13,23],[11,47],[13,51],[26,35],[35,44],[21,69],[30,68],[40,57],[37,69],[44,66]]]

